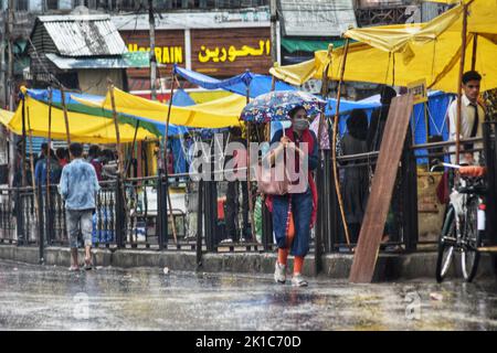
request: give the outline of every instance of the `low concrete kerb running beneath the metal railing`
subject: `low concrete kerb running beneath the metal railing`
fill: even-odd
[[[181,250],[137,250],[137,249],[93,249],[95,266],[113,266],[119,268],[131,267],[168,267],[171,270],[197,270],[195,253]],[[83,259],[83,252],[80,253]],[[39,248],[0,245],[0,259],[39,264]],[[274,271],[275,253],[222,253],[203,254],[203,272],[239,272],[239,274],[272,274]],[[328,254],[321,259],[322,270],[319,276],[346,279],[349,276],[353,256],[345,254]],[[452,276],[461,277],[459,261],[452,266]],[[70,250],[66,247],[47,247],[44,253],[45,265],[70,265]],[[289,266],[293,259],[289,258]],[[436,266],[436,253],[414,254],[380,254],[376,267],[374,281],[393,281],[399,279],[434,278]],[[455,268],[454,268],[455,267]],[[306,257],[304,275],[316,276],[314,255]],[[478,277],[491,277],[491,259],[487,254],[482,255]]]

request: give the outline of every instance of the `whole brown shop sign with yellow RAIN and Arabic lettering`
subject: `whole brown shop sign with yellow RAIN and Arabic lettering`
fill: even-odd
[[[189,51],[184,44],[184,31],[156,31],[157,62],[186,67],[190,60],[191,69],[216,77],[237,75],[245,69],[267,74],[272,66],[268,26],[201,29],[190,30],[189,33],[191,57],[187,57]],[[150,51],[148,31],[123,31],[120,34],[129,52]],[[170,68],[161,68],[162,77],[168,73]],[[128,69],[128,76],[145,78],[149,77],[149,72],[147,68]]]

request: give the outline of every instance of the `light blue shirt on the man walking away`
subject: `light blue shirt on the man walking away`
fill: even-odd
[[[67,210],[94,210],[95,196],[101,189],[95,169],[78,158],[62,170],[59,192]]]

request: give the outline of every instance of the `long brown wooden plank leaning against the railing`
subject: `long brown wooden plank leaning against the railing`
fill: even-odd
[[[390,106],[371,193],[350,270],[349,281],[351,282],[371,282],[372,280],[412,106],[411,94],[394,98]]]

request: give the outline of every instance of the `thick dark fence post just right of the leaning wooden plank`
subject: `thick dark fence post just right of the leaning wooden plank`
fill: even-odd
[[[411,149],[411,129],[404,143],[401,160],[401,200],[402,229],[405,252],[415,252],[417,247],[417,168],[414,152]]]

